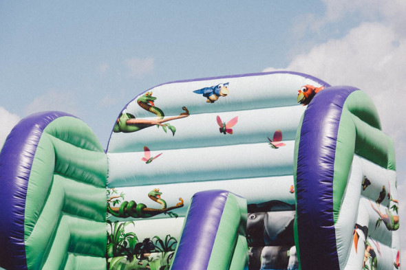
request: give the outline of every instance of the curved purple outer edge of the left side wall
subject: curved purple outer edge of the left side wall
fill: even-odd
[[[25,196],[36,146],[43,129],[61,112],[44,112],[21,120],[0,153],[0,266],[27,269],[24,245]],[[72,115],[70,115],[72,116]]]

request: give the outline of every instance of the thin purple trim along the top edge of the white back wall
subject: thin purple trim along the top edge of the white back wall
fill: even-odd
[[[228,79],[228,78],[242,78],[242,77],[251,77],[251,76],[265,76],[265,75],[270,75],[270,74],[292,74],[292,75],[297,75],[297,76],[301,76],[303,78],[306,79],[310,79],[310,80],[314,80],[314,82],[317,82],[319,85],[322,85],[323,87],[330,87],[330,85],[327,82],[324,82],[323,80],[320,80],[319,78],[310,76],[308,74],[303,74],[300,72],[295,72],[295,71],[271,71],[271,72],[259,72],[259,73],[250,73],[250,74],[238,74],[238,75],[230,75],[230,76],[218,76],[218,77],[209,77],[209,78],[197,78],[197,79],[192,79],[192,80],[175,80],[173,82],[165,82],[162,83],[160,85],[156,85],[154,87],[151,87],[150,89],[148,89],[147,91],[144,91],[142,93],[139,93],[138,95],[142,95],[143,93],[146,93],[148,91],[151,91],[151,89],[154,89],[156,87],[160,87],[161,85],[171,85],[173,83],[180,83],[180,82],[199,82],[201,80],[217,80],[217,79]],[[137,96],[138,96],[137,95]],[[130,102],[132,102],[133,100],[135,100],[135,98],[133,98]],[[128,102],[124,108],[126,108],[128,106],[128,104],[130,103]],[[121,112],[120,112],[121,113]],[[120,115],[120,114],[119,114]],[[118,115],[117,115],[118,117]],[[107,142],[107,150],[106,153],[109,150],[109,143],[110,143],[110,139],[111,139],[111,134],[113,134],[113,128],[111,128],[111,133],[110,133],[110,137],[109,137],[109,142]]]

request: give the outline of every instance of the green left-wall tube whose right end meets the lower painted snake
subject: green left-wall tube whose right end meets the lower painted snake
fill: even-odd
[[[94,221],[105,222],[106,201],[100,197],[105,196],[105,188],[75,181],[62,175],[55,175],[54,181],[63,186],[65,192],[65,205],[63,212],[83,216]]]

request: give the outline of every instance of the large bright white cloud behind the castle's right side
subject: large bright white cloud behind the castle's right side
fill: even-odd
[[[313,47],[295,57],[288,70],[312,74],[331,85],[352,85],[365,91],[378,108],[383,130],[406,151],[406,132],[399,128],[406,100],[406,38],[380,23],[363,23],[340,40]]]

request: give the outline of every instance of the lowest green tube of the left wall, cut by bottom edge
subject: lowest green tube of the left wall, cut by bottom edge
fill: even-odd
[[[106,259],[92,256],[81,256],[69,254],[65,265],[65,270],[98,270],[106,269]]]

